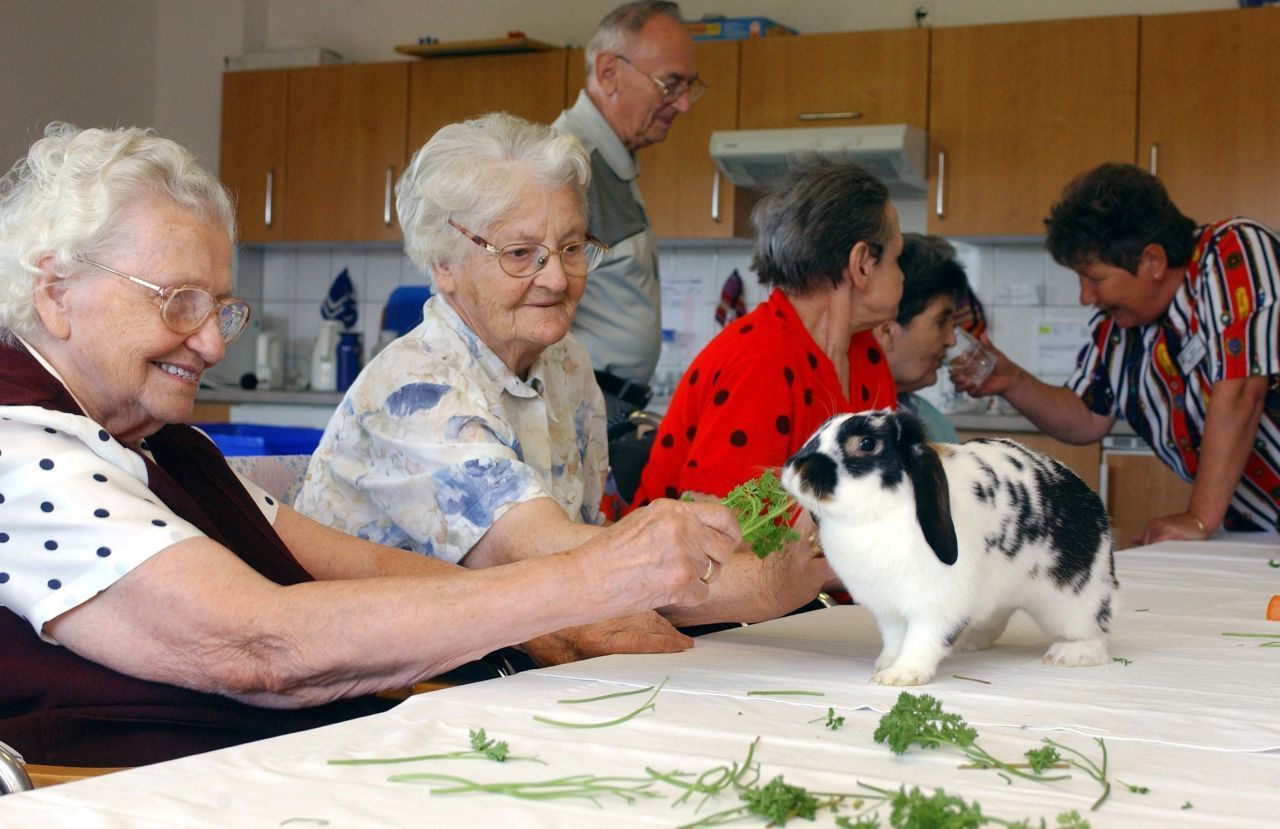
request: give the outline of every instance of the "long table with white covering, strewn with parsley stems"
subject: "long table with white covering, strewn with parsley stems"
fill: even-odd
[[[1052,738],[1098,759],[1103,738],[1114,789],[1098,811],[1097,783],[1073,771],[1060,783],[964,770],[955,751],[911,748],[896,756],[872,739],[900,690],[867,682],[878,636],[860,608],[831,608],[698,640],[682,654],[608,656],[436,691],[385,714],[114,775],[0,798],[0,826],[78,829],[165,826],[676,826],[737,805],[722,796],[700,812],[662,800],[527,802],[499,794],[431,794],[393,774],[436,773],[483,782],[531,782],[570,774],[704,771],[741,761],[759,738],[760,782],[783,775],[812,791],[856,792],[858,783],[901,784],[978,801],[1006,820],[1076,810],[1092,826],[1266,826],[1280,820],[1280,647],[1267,599],[1280,592],[1280,542],[1165,542],[1117,557],[1121,605],[1112,655],[1098,668],[1048,668],[1044,640],[1015,615],[991,650],[955,654],[927,692],[978,729],[997,757],[1020,760]],[[648,695],[581,705],[586,699],[667,679],[655,707],[609,728],[568,729],[535,715],[603,722]],[[988,684],[989,683],[989,684]],[[823,696],[760,696],[803,690]],[[827,727],[844,716],[840,729]],[[485,728],[529,761],[431,760],[338,766],[337,757],[390,757],[468,747]],[[1149,788],[1133,793],[1124,784]],[[1185,806],[1185,807],[1184,807]],[[844,810],[850,814],[850,810]],[[881,810],[888,825],[887,810]],[[733,825],[763,825],[759,819]],[[832,826],[819,814],[815,824]]]

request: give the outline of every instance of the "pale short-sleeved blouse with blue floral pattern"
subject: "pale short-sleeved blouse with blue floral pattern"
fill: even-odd
[[[599,525],[604,398],[566,335],[515,376],[443,297],[343,398],[297,509],[344,532],[458,562],[516,504],[552,498]]]

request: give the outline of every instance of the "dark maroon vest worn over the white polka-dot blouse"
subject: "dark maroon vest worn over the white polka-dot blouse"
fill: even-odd
[[[83,414],[24,348],[5,344],[0,344],[0,406]],[[278,585],[311,581],[206,438],[189,426],[165,426],[147,438],[147,446],[156,459],[146,462],[147,484],[174,513]],[[0,741],[28,762],[141,765],[389,705],[366,697],[312,709],[264,709],[137,679],[44,642],[24,619],[0,606]]]

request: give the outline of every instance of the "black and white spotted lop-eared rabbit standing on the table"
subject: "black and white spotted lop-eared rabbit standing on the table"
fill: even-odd
[[[872,682],[924,684],[952,647],[988,647],[1014,610],[1055,640],[1051,665],[1107,663],[1116,590],[1101,499],[1057,461],[1002,439],[931,444],[881,409],[828,420],[782,484],[879,627]]]

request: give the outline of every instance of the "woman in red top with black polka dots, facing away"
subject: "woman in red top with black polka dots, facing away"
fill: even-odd
[[[751,267],[773,290],[685,372],[635,505],[685,491],[722,496],[782,466],[832,414],[896,407],[872,334],[902,296],[902,233],[884,186],[858,165],[810,159],[751,220]]]

